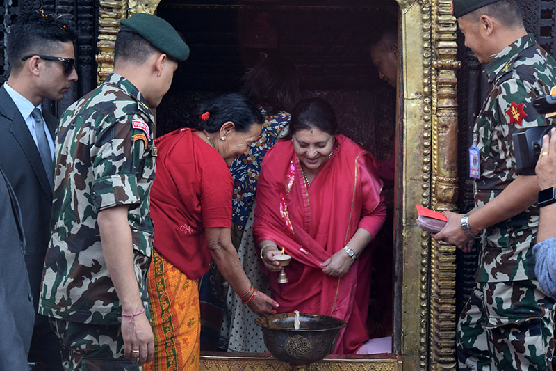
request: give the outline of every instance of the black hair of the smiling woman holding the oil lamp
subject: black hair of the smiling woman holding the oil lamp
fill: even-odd
[[[334,109],[322,98],[307,98],[297,103],[290,119],[290,135],[300,130],[317,128],[330,135],[338,132],[338,121]]]

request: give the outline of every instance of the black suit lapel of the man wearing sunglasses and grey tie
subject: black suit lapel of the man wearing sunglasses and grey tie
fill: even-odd
[[[23,119],[21,113],[19,113],[17,106],[3,86],[0,88],[0,114],[11,121],[10,133],[25,153],[27,161],[33,168],[42,190],[45,194],[47,194],[47,196],[52,197],[52,191],[47,179],[47,173],[44,171],[44,167],[42,166],[42,160],[40,159],[37,145],[35,145],[33,136],[31,136],[25,120]]]

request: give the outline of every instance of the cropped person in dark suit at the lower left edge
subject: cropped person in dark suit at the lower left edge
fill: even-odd
[[[19,205],[2,168],[0,205],[0,370],[25,370],[35,311],[25,274],[25,238]]]

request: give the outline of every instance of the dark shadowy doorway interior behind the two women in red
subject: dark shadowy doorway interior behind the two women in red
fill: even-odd
[[[156,136],[194,126],[202,102],[237,91],[262,54],[279,54],[302,72],[302,97],[324,97],[343,134],[376,159],[391,158],[395,89],[379,79],[369,44],[379,18],[395,19],[397,11],[394,0],[161,1],[157,15],[183,34],[190,58],[157,109]],[[384,184],[384,194],[388,218],[373,242],[369,272],[371,338],[392,333],[393,184]]]

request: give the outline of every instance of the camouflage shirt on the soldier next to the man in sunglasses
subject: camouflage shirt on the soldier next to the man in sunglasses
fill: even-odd
[[[73,322],[117,324],[120,301],[104,261],[98,212],[129,205],[135,274],[145,308],[152,253],[149,191],[154,117],[139,90],[111,74],[68,108],[56,133],[53,233],[39,313]],[[149,310],[147,308],[147,313]]]

